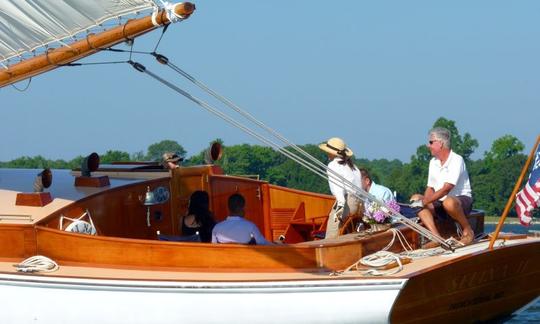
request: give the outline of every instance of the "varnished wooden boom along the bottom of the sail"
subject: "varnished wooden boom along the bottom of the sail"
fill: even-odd
[[[193,11],[195,11],[195,5],[191,2],[179,3],[175,6],[175,13],[185,18],[189,17]],[[100,34],[90,34],[86,39],[49,50],[44,54],[14,64],[5,70],[0,70],[0,88],[56,69],[62,64],[80,60],[81,58],[97,53],[101,49],[109,48],[128,39],[133,39],[159,26],[170,23],[165,10],[161,10],[155,20],[157,26],[152,23],[151,16],[129,20],[124,25]]]

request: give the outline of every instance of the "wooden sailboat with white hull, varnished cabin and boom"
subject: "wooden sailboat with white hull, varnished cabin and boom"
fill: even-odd
[[[182,8],[185,17],[194,6]],[[156,16],[165,14],[153,21],[168,23]],[[73,44],[10,66],[0,72],[2,85],[155,28],[148,19],[152,22],[143,18],[145,27],[136,31],[131,31],[134,23],[117,27],[110,32],[114,39],[92,36],[80,48]],[[382,232],[315,239],[333,197],[224,175],[216,165],[172,172],[145,163],[102,166],[94,177],[108,177],[109,184],[95,181],[95,186],[75,186],[79,174],[52,174],[52,199],[43,200],[27,194],[35,170],[0,170],[2,322],[475,322],[511,314],[540,294],[538,238],[509,235],[491,249],[488,240],[479,240],[454,252],[399,258],[386,269],[358,265],[343,272],[383,249],[404,252],[398,235],[415,249],[422,237],[395,224]],[[145,204],[148,189],[169,198]],[[281,237],[286,244],[158,240],[158,233],[182,234],[179,219],[195,190],[209,193],[217,220],[227,216],[228,196],[241,193],[246,217],[268,240]],[[20,195],[25,199],[18,200]],[[36,200],[37,206],[29,202]],[[469,220],[476,232],[483,231],[481,213]],[[446,234],[452,234],[452,226]],[[45,271],[21,272],[32,267],[14,267],[36,255],[54,260],[58,268],[48,272],[51,264],[43,263],[36,269]]]

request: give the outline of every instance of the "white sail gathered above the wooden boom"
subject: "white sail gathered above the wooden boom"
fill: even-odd
[[[1,0],[0,63],[153,7],[152,0]]]

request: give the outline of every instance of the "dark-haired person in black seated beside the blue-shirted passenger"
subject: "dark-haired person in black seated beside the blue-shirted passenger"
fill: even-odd
[[[206,191],[197,190],[189,198],[187,215],[182,219],[182,235],[195,235],[199,232],[201,242],[212,240],[212,230],[216,225],[209,209],[210,199]]]

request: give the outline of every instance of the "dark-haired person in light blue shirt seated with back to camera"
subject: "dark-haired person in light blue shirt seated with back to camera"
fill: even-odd
[[[268,245],[268,242],[257,228],[257,225],[244,219],[246,200],[240,194],[229,197],[230,216],[214,226],[212,243],[240,243]]]

